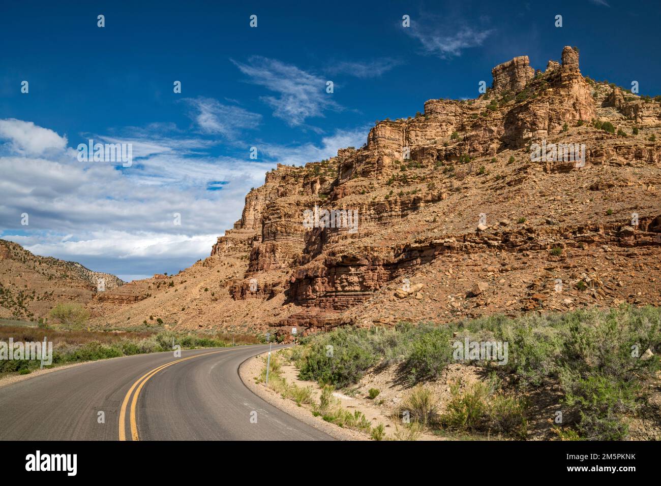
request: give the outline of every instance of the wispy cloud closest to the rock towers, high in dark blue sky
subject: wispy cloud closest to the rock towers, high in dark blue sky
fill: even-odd
[[[494,32],[490,28],[475,28],[458,18],[441,20],[432,15],[424,15],[424,22],[411,19],[410,28],[404,30],[420,41],[424,53],[441,59],[458,57],[465,49],[481,46]]]

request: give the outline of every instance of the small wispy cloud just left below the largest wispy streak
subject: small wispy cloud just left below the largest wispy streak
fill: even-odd
[[[185,98],[190,106],[190,118],[208,135],[222,135],[228,140],[236,139],[244,129],[258,127],[262,116],[240,106],[222,104],[213,98]]]

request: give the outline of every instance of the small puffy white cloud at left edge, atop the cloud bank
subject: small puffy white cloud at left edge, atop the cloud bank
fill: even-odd
[[[13,152],[26,155],[62,151],[67,146],[67,137],[60,137],[54,131],[35,125],[32,121],[15,118],[0,120],[0,139],[9,140]]]

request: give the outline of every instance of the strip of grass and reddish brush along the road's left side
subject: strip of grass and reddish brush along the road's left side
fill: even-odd
[[[193,334],[175,331],[82,331],[56,330],[29,326],[0,326],[0,341],[53,343],[53,363],[44,368],[97,361],[99,359],[131,356],[143,353],[172,351],[173,342],[181,349],[227,347],[258,344],[260,339],[252,335]],[[26,359],[1,359],[0,378],[11,374],[29,374],[40,368],[40,361]]]

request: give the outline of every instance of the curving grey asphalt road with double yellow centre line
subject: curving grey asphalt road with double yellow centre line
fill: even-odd
[[[136,355],[5,386],[0,440],[332,440],[241,382],[239,365],[266,349]]]

